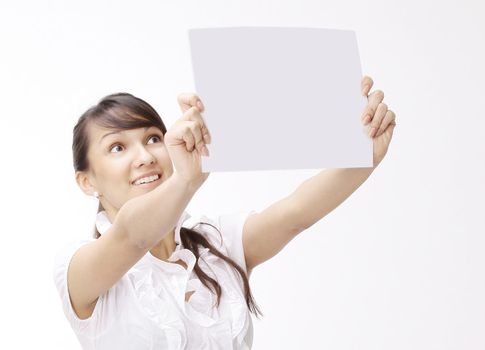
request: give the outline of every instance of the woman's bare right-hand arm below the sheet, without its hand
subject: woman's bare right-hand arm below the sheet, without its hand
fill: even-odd
[[[329,169],[291,195],[246,219],[243,246],[248,271],[276,255],[296,235],[347,199],[374,168]]]

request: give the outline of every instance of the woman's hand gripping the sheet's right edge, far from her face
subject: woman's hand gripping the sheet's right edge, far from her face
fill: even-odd
[[[374,167],[384,159],[389,144],[391,143],[394,127],[396,126],[396,115],[383,103],[384,92],[376,90],[369,95],[374,81],[365,76],[362,78],[362,94],[367,97],[367,106],[364,109],[361,120],[366,126],[369,137],[374,142]]]

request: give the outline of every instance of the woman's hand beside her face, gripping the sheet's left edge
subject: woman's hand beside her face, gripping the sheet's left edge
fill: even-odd
[[[201,156],[209,156],[205,145],[211,141],[201,115],[204,106],[193,93],[182,93],[177,100],[183,115],[165,133],[165,146],[178,176],[188,183],[200,186],[210,174],[202,173],[201,165]]]

